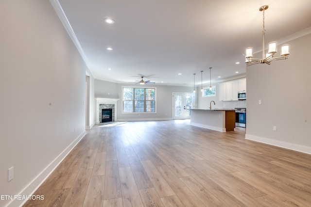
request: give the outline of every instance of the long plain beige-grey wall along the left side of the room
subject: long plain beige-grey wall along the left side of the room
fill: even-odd
[[[0,195],[29,195],[85,134],[87,68],[48,0],[1,1],[0,25]]]

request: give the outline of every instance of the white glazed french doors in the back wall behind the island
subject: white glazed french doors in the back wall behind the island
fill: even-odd
[[[193,93],[173,93],[173,119],[190,119],[194,109]]]

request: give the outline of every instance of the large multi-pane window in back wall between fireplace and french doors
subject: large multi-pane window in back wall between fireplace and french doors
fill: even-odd
[[[155,113],[155,88],[122,87],[122,95],[122,112]]]

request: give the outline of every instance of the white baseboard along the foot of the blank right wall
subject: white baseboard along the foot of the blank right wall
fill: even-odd
[[[278,146],[278,147],[282,147],[285,149],[290,149],[290,150],[294,150],[294,151],[298,151],[298,152],[303,152],[306,154],[311,154],[311,147],[308,147],[308,146],[302,146],[299,144],[287,143],[287,142],[282,142],[282,141],[278,141],[278,140],[267,139],[267,138],[263,138],[263,137],[250,135],[250,134],[245,134],[245,139],[252,140],[255,142],[259,142],[259,143],[266,143],[266,144],[270,144],[273,146]]]

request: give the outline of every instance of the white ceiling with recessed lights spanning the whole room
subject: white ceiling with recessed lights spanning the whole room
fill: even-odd
[[[311,27],[311,0],[58,1],[94,78],[129,84],[193,86],[196,73],[201,85],[201,70],[209,84],[209,67],[212,84],[245,76],[245,48],[262,47],[262,5],[266,43]]]

